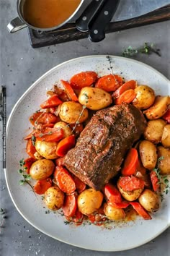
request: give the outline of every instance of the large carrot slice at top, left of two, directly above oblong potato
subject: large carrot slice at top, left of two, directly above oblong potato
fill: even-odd
[[[94,71],[81,72],[79,74],[74,74],[71,77],[71,86],[73,89],[81,89],[86,86],[90,86],[97,81],[97,73]]]

